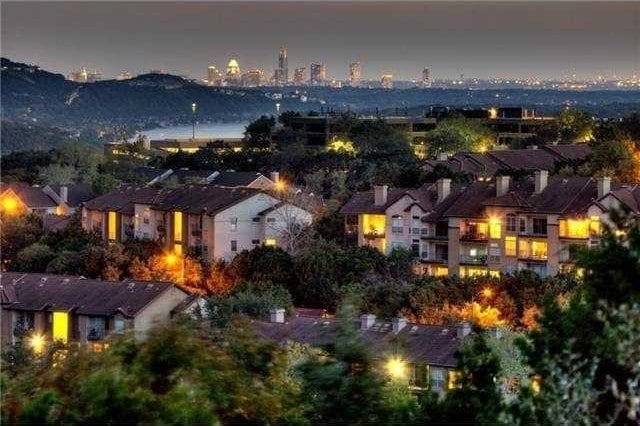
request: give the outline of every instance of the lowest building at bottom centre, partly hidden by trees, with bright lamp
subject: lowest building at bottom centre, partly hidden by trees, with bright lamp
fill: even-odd
[[[317,348],[336,344],[339,331],[335,318],[297,316],[286,318],[284,309],[272,311],[270,321],[254,321],[256,332],[279,345],[295,342]],[[406,379],[414,390],[440,395],[455,386],[456,351],[471,333],[467,323],[451,326],[410,324],[404,318],[376,320],[362,315],[353,327],[366,343],[380,370]]]

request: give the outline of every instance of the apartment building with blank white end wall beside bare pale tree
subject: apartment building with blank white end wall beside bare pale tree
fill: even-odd
[[[175,189],[123,186],[84,204],[82,224],[105,241],[160,241],[177,254],[231,260],[265,244],[285,246],[290,230],[312,214],[271,193],[250,188],[187,185]]]

